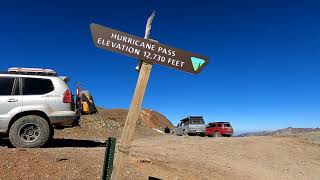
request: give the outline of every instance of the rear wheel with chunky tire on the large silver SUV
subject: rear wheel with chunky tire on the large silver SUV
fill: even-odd
[[[13,123],[9,131],[9,139],[15,147],[36,148],[48,142],[50,131],[50,126],[45,119],[28,115]]]

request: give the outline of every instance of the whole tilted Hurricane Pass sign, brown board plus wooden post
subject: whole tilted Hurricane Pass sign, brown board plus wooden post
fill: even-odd
[[[144,38],[94,23],[90,25],[92,40],[97,48],[124,54],[141,61],[136,89],[122,131],[120,143],[116,147],[115,166],[111,178],[113,180],[123,179],[125,163],[130,152],[152,64],[160,64],[180,71],[199,74],[209,63],[206,56],[150,40],[150,30],[154,16],[155,13],[153,12],[148,18]]]

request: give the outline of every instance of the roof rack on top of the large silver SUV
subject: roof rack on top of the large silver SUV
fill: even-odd
[[[40,76],[57,76],[57,72],[52,69],[42,68],[18,68],[12,67],[8,69],[10,74],[40,75]]]

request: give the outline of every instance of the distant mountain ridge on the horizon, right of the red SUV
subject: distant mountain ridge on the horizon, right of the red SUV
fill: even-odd
[[[249,137],[249,136],[286,136],[299,133],[309,133],[320,131],[320,128],[284,128],[276,131],[259,131],[259,132],[248,132],[238,135],[238,137]]]

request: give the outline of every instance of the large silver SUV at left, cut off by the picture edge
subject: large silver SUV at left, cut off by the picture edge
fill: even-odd
[[[77,121],[65,79],[48,69],[11,68],[0,73],[0,133],[15,147],[41,147],[54,126]]]

